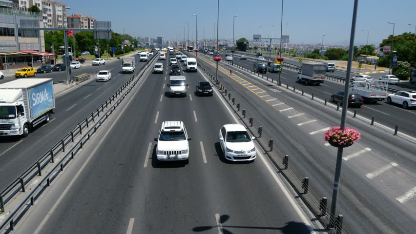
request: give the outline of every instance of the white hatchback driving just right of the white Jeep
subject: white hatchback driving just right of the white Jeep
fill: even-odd
[[[246,128],[241,124],[226,124],[218,135],[224,158],[230,161],[252,161],[256,158],[256,147]]]

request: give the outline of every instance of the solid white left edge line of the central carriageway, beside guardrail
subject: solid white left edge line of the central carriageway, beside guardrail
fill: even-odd
[[[146,80],[146,78],[145,78]],[[117,124],[117,121],[120,119],[120,117],[123,116],[123,113],[127,109],[127,107],[130,105],[131,101],[134,99],[136,94],[139,92],[140,88],[142,87],[143,83],[139,86],[139,88],[134,92],[132,98],[127,102],[123,110],[121,111],[120,115],[117,116],[117,118],[114,120],[114,122],[111,124],[111,126],[108,128],[107,132],[104,134],[104,137],[101,138],[100,142],[98,142],[97,146],[93,150],[93,152],[88,156],[88,158],[85,160],[83,166],[80,168],[80,170],[77,172],[77,174],[72,178],[71,182],[69,182],[66,189],[63,191],[63,193],[59,196],[58,200],[55,202],[55,204],[52,206],[50,211],[47,213],[48,215],[43,218],[41,224],[38,226],[38,228],[35,230],[33,234],[39,234],[43,226],[45,225],[46,221],[49,219],[49,217],[54,213],[58,205],[61,203],[63,197],[68,193],[68,191],[71,189],[72,185],[75,183],[75,181],[78,179],[78,177],[81,175],[85,167],[87,166],[88,162],[91,160],[92,156],[95,155],[97,150],[100,148],[101,144],[103,143],[104,139],[108,136],[110,131],[113,129],[113,127]]]

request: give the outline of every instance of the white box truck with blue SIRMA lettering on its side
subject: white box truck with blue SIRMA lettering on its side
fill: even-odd
[[[17,79],[0,84],[0,136],[27,137],[31,128],[49,122],[54,108],[50,78]]]

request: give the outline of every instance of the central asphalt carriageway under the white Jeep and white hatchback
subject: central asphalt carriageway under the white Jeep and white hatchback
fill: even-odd
[[[17,232],[325,233],[260,149],[254,162],[225,161],[218,132],[238,119],[218,94],[194,95],[200,72],[184,75],[184,98],[166,95],[168,74],[143,77]],[[153,138],[168,120],[192,138],[188,163],[156,159]]]

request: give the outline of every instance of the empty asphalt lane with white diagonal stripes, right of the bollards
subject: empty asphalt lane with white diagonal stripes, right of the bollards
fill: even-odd
[[[198,55],[198,59],[210,74],[215,74],[211,57]],[[312,194],[318,199],[328,197],[330,204],[336,149],[325,145],[322,138],[326,129],[339,125],[340,111],[223,62],[219,65],[219,80],[231,97],[247,110],[247,117],[254,117],[256,126],[263,127],[265,139],[278,142],[275,147],[280,155],[290,156],[290,167],[298,177],[310,178]],[[234,69],[232,76],[230,69]],[[344,215],[347,231],[414,232],[415,143],[357,118],[348,117],[347,126],[358,129],[362,135],[354,146],[344,149],[343,155],[337,213]]]

